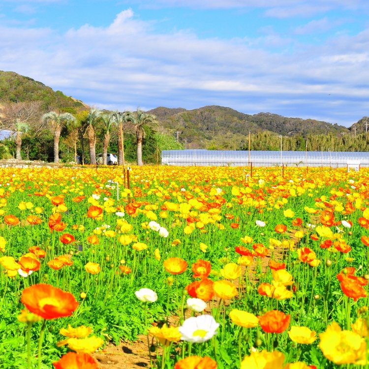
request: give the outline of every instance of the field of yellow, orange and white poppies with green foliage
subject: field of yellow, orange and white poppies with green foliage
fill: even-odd
[[[368,228],[367,169],[0,168],[0,368],[368,369]]]

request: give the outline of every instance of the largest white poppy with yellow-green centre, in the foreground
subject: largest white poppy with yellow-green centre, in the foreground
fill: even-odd
[[[216,335],[218,327],[219,323],[216,323],[212,315],[199,315],[186,319],[178,330],[182,335],[182,340],[201,343]]]

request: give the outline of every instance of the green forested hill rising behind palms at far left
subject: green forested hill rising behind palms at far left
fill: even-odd
[[[53,91],[43,83],[15,72],[0,70],[0,104],[41,101],[44,111],[62,108],[82,108],[82,101]]]

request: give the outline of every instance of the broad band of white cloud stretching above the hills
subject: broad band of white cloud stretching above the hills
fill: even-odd
[[[84,25],[62,35],[0,26],[0,69],[112,110],[219,104],[346,124],[368,115],[369,30],[285,54],[268,51],[268,42],[290,40],[156,33],[127,9],[107,27]]]

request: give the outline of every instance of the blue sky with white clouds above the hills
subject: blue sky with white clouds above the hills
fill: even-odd
[[[0,0],[0,70],[109,110],[369,116],[368,0]]]

